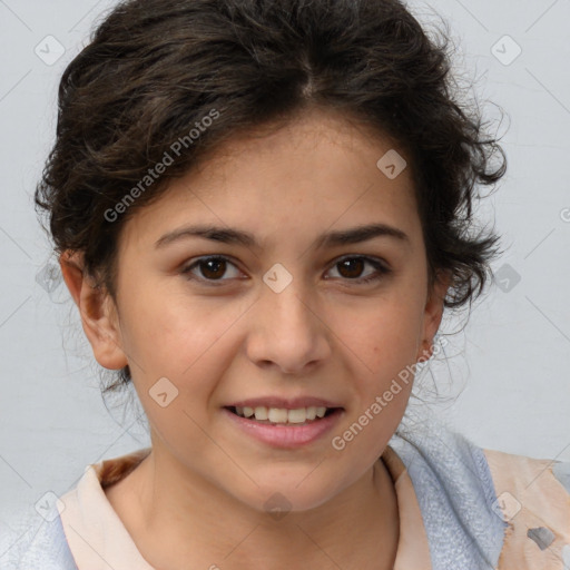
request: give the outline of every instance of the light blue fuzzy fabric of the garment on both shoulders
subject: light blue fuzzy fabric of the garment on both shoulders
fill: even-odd
[[[414,430],[401,425],[390,445],[412,480],[433,570],[495,568],[507,523],[493,510],[497,495],[483,451],[434,420]],[[559,463],[556,473],[564,484],[570,465]],[[2,570],[78,570],[59,517],[42,521],[2,557],[3,550]]]

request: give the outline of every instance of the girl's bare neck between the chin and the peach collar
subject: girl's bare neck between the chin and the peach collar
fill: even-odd
[[[207,481],[188,480],[169,461],[153,451],[106,491],[155,568],[393,568],[400,521],[382,461],[318,508],[279,517],[252,509]]]

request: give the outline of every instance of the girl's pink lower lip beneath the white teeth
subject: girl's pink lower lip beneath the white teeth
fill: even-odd
[[[258,441],[275,448],[295,449],[315,442],[330,432],[343,415],[343,410],[335,410],[332,414],[315,420],[305,425],[295,424],[268,424],[236,415],[227,409],[223,412],[236,423],[244,432]]]

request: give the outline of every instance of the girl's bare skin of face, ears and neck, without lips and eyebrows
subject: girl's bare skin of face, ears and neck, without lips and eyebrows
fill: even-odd
[[[379,458],[412,382],[344,450],[331,444],[400,371],[431,354],[449,286],[440,276],[429,288],[410,169],[391,180],[376,167],[392,148],[314,110],[272,135],[224,144],[128,219],[117,303],[81,275],[80,254],[61,256],[95,357],[106,368],[130,365],[149,420],[150,455],[106,492],[155,568],[393,567],[397,503]],[[196,237],[155,247],[195,223],[247,230],[259,249]],[[371,223],[407,239],[313,245],[322,233]],[[229,258],[225,272],[202,264],[195,281],[181,273],[214,254]],[[348,254],[383,259],[391,272],[343,269]],[[263,281],[276,263],[293,277],[281,293]],[[149,395],[160,377],[178,389],[166,407]],[[343,415],[316,442],[276,449],[223,412],[269,394],[332,400]],[[275,492],[292,508],[279,520],[264,509]]]

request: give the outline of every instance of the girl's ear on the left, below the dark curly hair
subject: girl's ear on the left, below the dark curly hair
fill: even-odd
[[[67,288],[79,308],[95,358],[105,368],[122,368],[128,361],[121,348],[119,320],[111,296],[101,287],[96,287],[94,279],[83,271],[80,252],[63,252],[59,265]]]

